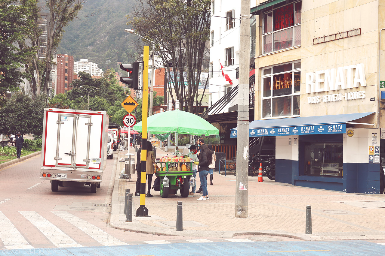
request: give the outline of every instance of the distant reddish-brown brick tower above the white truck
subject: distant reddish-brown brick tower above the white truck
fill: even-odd
[[[71,90],[70,83],[74,80],[74,57],[67,54],[56,55],[55,95]]]

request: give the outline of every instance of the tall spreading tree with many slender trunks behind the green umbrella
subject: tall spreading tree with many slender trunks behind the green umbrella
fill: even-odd
[[[175,89],[179,108],[194,111],[206,41],[210,33],[211,0],[138,0],[129,22],[140,35],[156,42],[167,65],[169,91]],[[131,18],[133,17],[133,18]],[[159,50],[161,48],[161,50]],[[171,94],[175,105],[174,96]]]

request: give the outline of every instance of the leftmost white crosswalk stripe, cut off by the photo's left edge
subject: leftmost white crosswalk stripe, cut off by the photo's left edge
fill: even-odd
[[[0,239],[7,249],[33,248],[22,234],[13,226],[12,222],[0,211]]]

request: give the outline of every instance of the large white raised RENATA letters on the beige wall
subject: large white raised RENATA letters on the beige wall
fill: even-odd
[[[306,93],[335,91],[360,86],[366,86],[363,63],[306,73]]]

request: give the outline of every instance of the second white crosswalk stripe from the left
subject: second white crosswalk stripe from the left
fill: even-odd
[[[35,211],[19,211],[30,223],[40,230],[56,247],[80,247],[72,238],[67,236],[57,226],[40,216]]]

